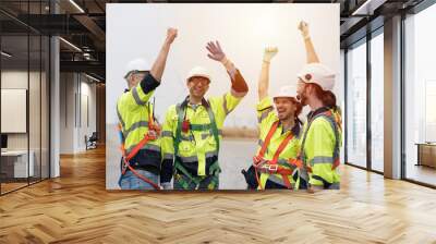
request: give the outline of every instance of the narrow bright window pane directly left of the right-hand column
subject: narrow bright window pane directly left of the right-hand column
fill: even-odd
[[[384,38],[371,40],[371,167],[384,171]]]

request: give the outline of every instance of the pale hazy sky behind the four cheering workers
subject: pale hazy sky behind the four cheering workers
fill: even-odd
[[[283,85],[295,85],[305,63],[298,24],[310,24],[315,49],[323,63],[339,76],[339,4],[223,4],[155,3],[107,5],[107,123],[118,123],[116,102],[126,87],[125,64],[135,58],[153,63],[170,26],[179,29],[168,56],[162,84],[155,93],[156,115],[164,122],[170,105],[187,95],[185,76],[194,65],[210,70],[213,82],[206,97],[230,89],[225,68],[207,58],[206,42],[219,40],[249,83],[250,93],[228,117],[227,126],[256,126],[257,78],[266,46],[277,46],[271,61],[269,94]],[[339,83],[339,78],[337,83]],[[339,93],[341,85],[336,86]],[[338,103],[341,102],[341,97]]]

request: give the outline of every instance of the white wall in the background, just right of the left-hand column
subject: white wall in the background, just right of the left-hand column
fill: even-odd
[[[60,87],[60,152],[84,151],[85,135],[96,131],[96,85],[83,74],[61,73]]]

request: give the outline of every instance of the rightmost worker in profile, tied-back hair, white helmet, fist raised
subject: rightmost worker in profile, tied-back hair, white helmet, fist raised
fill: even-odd
[[[303,126],[300,160],[308,174],[308,190],[335,188],[340,186],[338,172],[341,147],[341,114],[331,91],[335,73],[319,62],[312,44],[308,25],[299,25],[304,39],[307,64],[298,75],[300,102],[311,112]]]

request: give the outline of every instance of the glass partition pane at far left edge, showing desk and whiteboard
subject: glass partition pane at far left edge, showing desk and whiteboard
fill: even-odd
[[[28,37],[1,37],[1,191],[27,185],[28,164]]]

